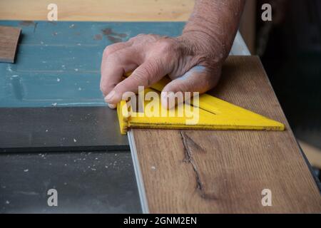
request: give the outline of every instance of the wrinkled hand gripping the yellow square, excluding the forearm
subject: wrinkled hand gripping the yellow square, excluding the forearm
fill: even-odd
[[[193,36],[141,34],[105,48],[101,91],[109,107],[116,108],[123,93],[137,93],[138,86],[151,86],[168,75],[173,81],[163,92],[205,93],[218,83],[225,57],[218,46],[194,40]],[[122,81],[124,73],[130,71],[132,75]],[[163,99],[162,94],[162,104],[167,104]]]

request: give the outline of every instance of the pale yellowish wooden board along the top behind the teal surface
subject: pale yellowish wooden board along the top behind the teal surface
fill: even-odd
[[[186,21],[194,2],[195,0],[0,1],[0,20],[47,20],[47,6],[54,3],[58,6],[58,21]]]

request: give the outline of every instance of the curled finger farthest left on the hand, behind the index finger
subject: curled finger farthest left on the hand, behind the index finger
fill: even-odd
[[[137,52],[134,48],[123,48],[111,53],[101,64],[101,91],[104,96],[122,80],[124,73],[137,68]]]

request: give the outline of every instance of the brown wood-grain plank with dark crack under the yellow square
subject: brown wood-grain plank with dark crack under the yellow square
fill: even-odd
[[[134,129],[149,212],[321,212],[320,193],[259,58],[229,57],[213,95],[287,130]],[[264,189],[272,207],[261,203]]]

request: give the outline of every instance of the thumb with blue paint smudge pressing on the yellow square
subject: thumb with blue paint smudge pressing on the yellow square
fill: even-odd
[[[174,108],[179,101],[174,98],[174,94],[178,92],[183,93],[183,99],[185,99],[185,92],[190,92],[190,96],[193,96],[193,92],[205,93],[218,83],[219,73],[215,73],[208,70],[204,66],[194,66],[190,68],[183,76],[176,78],[168,83],[161,93],[161,103],[164,108]],[[170,99],[175,99],[173,102]]]

